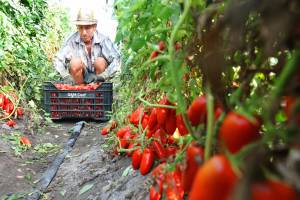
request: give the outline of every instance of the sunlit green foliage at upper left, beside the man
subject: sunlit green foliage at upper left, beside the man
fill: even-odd
[[[56,77],[51,59],[68,29],[67,15],[44,0],[0,3],[0,84],[19,90],[27,81],[21,95],[40,104],[43,81]]]

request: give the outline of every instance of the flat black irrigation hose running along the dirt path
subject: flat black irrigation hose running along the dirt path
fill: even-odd
[[[37,188],[28,195],[26,200],[38,200],[40,199],[41,194],[46,191],[47,187],[51,183],[52,179],[56,175],[57,170],[59,169],[60,165],[64,161],[66,155],[71,152],[72,147],[74,146],[78,136],[80,135],[81,129],[83,128],[85,122],[77,122],[76,125],[73,127],[73,133],[70,136],[68,142],[65,144],[63,152],[56,156],[54,161],[48,167],[48,169],[44,172],[41,179],[38,182]]]

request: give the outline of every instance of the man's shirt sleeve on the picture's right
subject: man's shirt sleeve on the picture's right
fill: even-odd
[[[102,54],[108,62],[107,69],[101,74],[104,78],[112,78],[120,72],[120,54],[109,38],[105,38],[102,44]]]

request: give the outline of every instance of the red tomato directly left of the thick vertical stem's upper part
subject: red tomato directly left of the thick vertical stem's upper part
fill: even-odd
[[[192,126],[204,123],[207,115],[205,96],[197,97],[188,108],[187,114]]]

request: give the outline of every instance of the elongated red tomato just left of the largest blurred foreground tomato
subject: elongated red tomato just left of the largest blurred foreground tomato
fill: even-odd
[[[186,165],[182,173],[182,186],[185,192],[190,191],[195,174],[202,164],[203,158],[204,149],[195,143],[191,143],[186,151]]]

